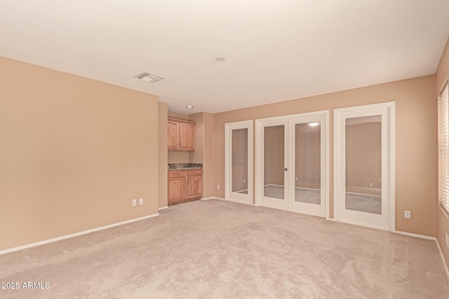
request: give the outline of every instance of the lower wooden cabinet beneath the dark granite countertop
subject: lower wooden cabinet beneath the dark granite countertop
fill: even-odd
[[[203,169],[168,172],[168,205],[199,200],[203,195]]]

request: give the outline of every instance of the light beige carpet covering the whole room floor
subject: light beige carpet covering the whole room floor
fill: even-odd
[[[0,298],[449,298],[436,243],[220,200],[0,256]]]

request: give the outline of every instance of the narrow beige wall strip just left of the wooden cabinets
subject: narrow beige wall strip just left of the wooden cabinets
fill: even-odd
[[[168,151],[167,151],[167,104],[159,102],[158,118],[158,161],[159,161],[159,208],[168,206]]]

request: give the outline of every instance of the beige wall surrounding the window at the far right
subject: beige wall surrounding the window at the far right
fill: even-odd
[[[446,43],[446,47],[443,52],[443,56],[441,57],[440,64],[438,65],[438,69],[436,70],[436,95],[438,95],[443,89],[445,83],[448,81],[449,76],[449,42]],[[433,102],[436,103],[436,95]],[[434,109],[433,118],[437,118],[438,113],[437,109]],[[434,134],[437,134],[437,126],[434,125]],[[432,139],[433,141],[433,139]],[[434,141],[435,147],[437,146],[437,142]],[[435,149],[435,152],[437,149]],[[437,152],[436,152],[437,153]],[[438,163],[438,160],[435,159],[434,163]],[[437,174],[438,169],[435,169],[435,176]],[[438,190],[438,181],[434,183],[434,188]],[[438,195],[438,192],[437,192]],[[438,202],[438,196],[433,197],[434,201]],[[431,218],[429,218],[431,220]],[[442,207],[436,204],[436,239],[438,244],[440,244],[441,251],[443,251],[443,256],[445,258],[446,265],[449,265],[449,249],[445,246],[445,232],[449,234],[449,216],[444,211]]]

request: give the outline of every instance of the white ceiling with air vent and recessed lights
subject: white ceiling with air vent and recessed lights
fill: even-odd
[[[0,56],[216,113],[434,74],[448,13],[448,0],[0,0]]]

